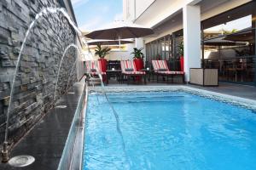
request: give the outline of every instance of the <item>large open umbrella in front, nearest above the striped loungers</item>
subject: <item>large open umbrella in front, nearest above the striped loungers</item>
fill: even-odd
[[[139,26],[131,22],[115,21],[109,26],[86,34],[84,37],[90,37],[91,39],[119,40],[120,48],[120,39],[145,37],[150,34],[154,34],[151,28]]]

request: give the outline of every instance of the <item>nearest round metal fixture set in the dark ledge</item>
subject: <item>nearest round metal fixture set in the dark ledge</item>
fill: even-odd
[[[12,167],[26,167],[34,161],[33,156],[15,156],[9,160],[9,165]]]

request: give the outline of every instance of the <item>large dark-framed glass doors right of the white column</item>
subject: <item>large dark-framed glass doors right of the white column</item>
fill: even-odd
[[[255,4],[213,17],[210,21],[221,21],[216,26],[203,21],[202,62],[205,68],[218,69],[219,81],[256,84]]]

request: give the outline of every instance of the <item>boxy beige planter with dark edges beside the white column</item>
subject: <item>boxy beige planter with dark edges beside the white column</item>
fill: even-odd
[[[218,86],[218,69],[191,68],[190,83],[201,86]]]

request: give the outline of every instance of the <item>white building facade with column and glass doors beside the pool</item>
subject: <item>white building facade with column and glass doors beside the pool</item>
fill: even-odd
[[[124,18],[154,29],[143,37],[146,64],[166,59],[186,81],[190,68],[217,68],[219,80],[256,85],[255,7],[251,0],[124,0]]]

